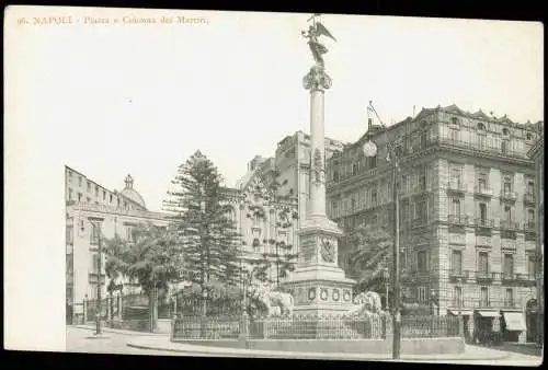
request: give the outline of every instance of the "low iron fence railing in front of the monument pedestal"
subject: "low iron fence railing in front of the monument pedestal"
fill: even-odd
[[[387,339],[392,317],[293,316],[250,320],[246,316],[174,319],[172,339]],[[403,316],[404,338],[463,336],[461,317]]]

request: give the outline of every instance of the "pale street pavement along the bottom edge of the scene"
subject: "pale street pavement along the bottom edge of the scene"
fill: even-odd
[[[206,354],[204,351],[195,352],[174,352],[170,350],[157,350],[157,349],[140,349],[135,347],[129,347],[128,343],[140,342],[144,344],[150,343],[162,343],[167,342],[167,338],[162,336],[144,335],[144,333],[132,333],[132,332],[105,332],[105,338],[95,339],[92,338],[94,331],[90,328],[67,327],[67,351],[70,352],[98,352],[98,354],[124,354],[124,355],[152,355],[152,356],[201,356],[201,357],[217,357],[216,354]],[[286,354],[279,354],[279,357],[286,357]],[[501,355],[507,355],[505,358],[501,359]],[[227,357],[226,354],[220,355]],[[459,365],[496,365],[496,366],[539,366],[541,363],[541,358],[536,356],[527,356],[516,352],[503,352],[498,349],[490,349],[478,346],[466,346],[466,351],[463,357],[472,358],[499,358],[499,359],[486,359],[486,360],[470,360],[470,359],[452,359],[452,360],[426,360],[416,359],[420,362],[435,362],[435,363],[459,363]],[[295,355],[297,358],[298,355]],[[366,360],[366,359],[364,359]],[[402,359],[402,361],[410,361],[410,359]]]

